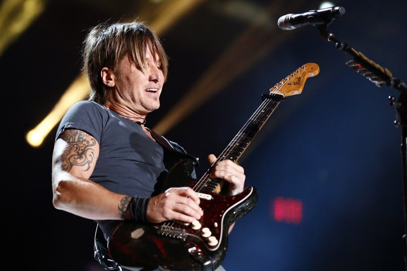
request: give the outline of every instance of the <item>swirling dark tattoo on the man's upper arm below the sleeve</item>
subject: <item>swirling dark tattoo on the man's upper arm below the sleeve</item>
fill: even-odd
[[[88,171],[95,158],[92,147],[96,145],[96,139],[86,132],[74,129],[64,131],[60,138],[68,143],[61,155],[62,169],[69,171],[73,166],[79,166],[83,167],[83,171]]]

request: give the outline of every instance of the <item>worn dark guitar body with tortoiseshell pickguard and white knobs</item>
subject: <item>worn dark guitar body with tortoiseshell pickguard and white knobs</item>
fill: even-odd
[[[168,173],[166,186],[195,186],[192,171],[193,162],[182,160]],[[171,221],[154,225],[126,221],[109,239],[109,254],[118,264],[134,270],[158,266],[168,270],[216,269],[226,255],[230,225],[256,205],[257,191],[249,186],[238,195],[223,196],[203,188],[200,194],[204,215],[199,228]]]

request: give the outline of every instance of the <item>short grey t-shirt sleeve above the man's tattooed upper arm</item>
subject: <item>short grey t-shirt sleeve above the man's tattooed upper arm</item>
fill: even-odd
[[[90,101],[73,104],[59,123],[55,141],[67,129],[77,129],[92,135],[100,143],[103,130],[103,111],[101,107]]]

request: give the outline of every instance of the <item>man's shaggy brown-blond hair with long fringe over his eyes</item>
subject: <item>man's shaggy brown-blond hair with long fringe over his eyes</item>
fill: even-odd
[[[104,104],[107,87],[103,84],[101,70],[109,67],[115,72],[118,63],[129,55],[138,69],[144,71],[147,50],[153,52],[155,63],[160,60],[164,80],[168,74],[168,58],[157,35],[144,22],[98,24],[90,29],[83,41],[83,72],[90,82],[88,100]],[[159,59],[156,59],[156,54]]]

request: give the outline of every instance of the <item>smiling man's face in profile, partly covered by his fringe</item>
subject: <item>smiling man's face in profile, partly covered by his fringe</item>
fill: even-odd
[[[160,69],[160,59],[156,54],[154,62],[151,50],[147,50],[144,70],[141,71],[126,55],[115,73],[115,89],[123,105],[140,115],[150,113],[160,107],[160,94],[164,75]]]

